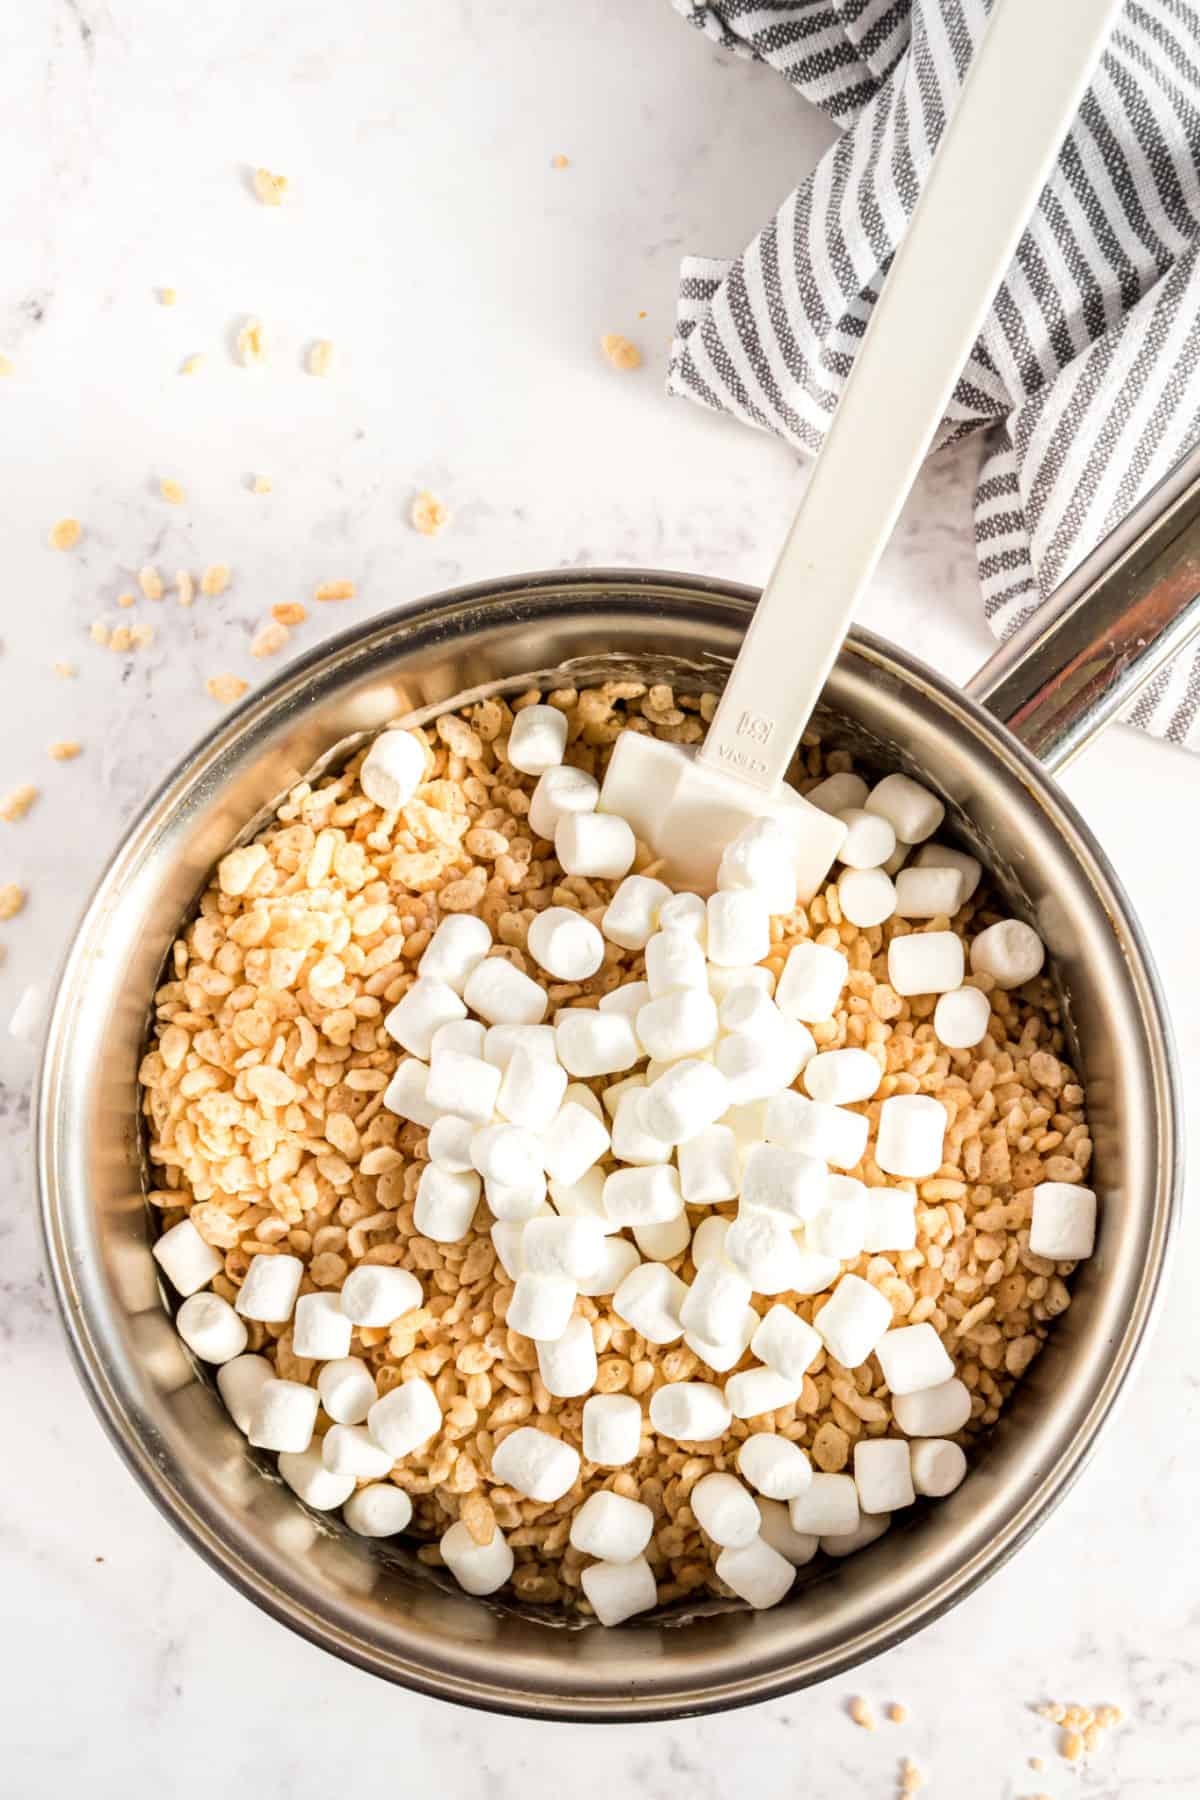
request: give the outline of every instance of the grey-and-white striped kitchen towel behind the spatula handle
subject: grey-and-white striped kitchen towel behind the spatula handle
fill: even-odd
[[[667,382],[811,455],[990,0],[673,4],[846,128],[739,257],[687,257]],[[997,635],[1200,437],[1198,254],[1200,7],[1130,0],[939,436],[988,434],[975,542]],[[1200,749],[1200,652],[1128,716]]]

